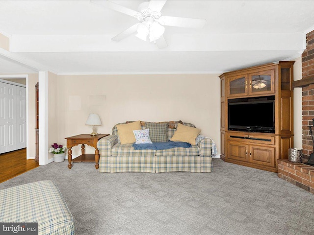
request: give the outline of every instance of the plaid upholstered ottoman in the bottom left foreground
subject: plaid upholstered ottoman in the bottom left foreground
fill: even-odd
[[[0,222],[38,223],[38,235],[75,234],[68,206],[48,180],[0,190]]]

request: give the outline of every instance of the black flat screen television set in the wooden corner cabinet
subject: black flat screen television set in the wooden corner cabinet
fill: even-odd
[[[274,96],[229,99],[228,130],[275,133]]]

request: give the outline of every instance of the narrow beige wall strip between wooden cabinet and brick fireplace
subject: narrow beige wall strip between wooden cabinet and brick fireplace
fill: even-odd
[[[294,81],[302,79],[302,59],[295,59],[293,66]],[[293,127],[294,147],[302,148],[302,88],[296,87],[293,90]]]

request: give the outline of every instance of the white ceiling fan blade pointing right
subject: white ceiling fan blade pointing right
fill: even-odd
[[[175,16],[162,16],[159,18],[159,23],[168,26],[186,27],[186,28],[203,28],[206,20],[183,18]]]

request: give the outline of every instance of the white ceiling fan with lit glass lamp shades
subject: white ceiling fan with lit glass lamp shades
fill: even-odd
[[[91,2],[135,17],[139,21],[139,23],[132,25],[125,31],[112,38],[113,41],[117,42],[137,32],[136,37],[144,41],[149,40],[150,42],[154,42],[157,47],[164,48],[168,45],[162,36],[165,31],[163,25],[187,28],[203,28],[206,23],[206,20],[204,19],[162,16],[160,11],[166,3],[166,0],[144,1],[139,4],[138,11],[121,6],[108,0],[91,0]]]

